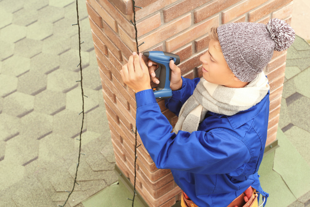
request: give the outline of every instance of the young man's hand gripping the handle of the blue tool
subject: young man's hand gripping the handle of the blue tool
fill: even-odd
[[[181,69],[175,65],[173,60],[170,60],[169,66],[171,69],[170,88],[171,90],[177,90],[182,87]],[[148,60],[148,71],[154,83],[158,84],[159,80],[155,76],[155,70],[158,68],[158,64],[151,60]]]

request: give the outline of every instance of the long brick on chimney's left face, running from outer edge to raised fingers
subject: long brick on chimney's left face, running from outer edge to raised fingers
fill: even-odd
[[[98,27],[98,25],[93,22],[91,18],[89,18],[90,26],[93,32],[99,37],[99,39],[113,52],[113,54],[120,59],[121,51],[114,45],[114,43],[104,34],[102,29]]]

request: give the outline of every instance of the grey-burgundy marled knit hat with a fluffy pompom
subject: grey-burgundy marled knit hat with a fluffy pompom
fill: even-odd
[[[273,51],[286,50],[295,39],[294,29],[278,18],[267,25],[232,22],[219,26],[217,33],[230,70],[242,82],[254,80],[271,60]]]

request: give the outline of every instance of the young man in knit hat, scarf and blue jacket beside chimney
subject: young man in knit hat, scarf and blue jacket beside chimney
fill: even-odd
[[[133,53],[120,71],[135,90],[136,127],[158,169],[170,169],[182,190],[182,207],[257,207],[258,170],[269,116],[269,83],[264,67],[273,51],[286,50],[295,32],[285,21],[238,22],[211,27],[208,51],[200,57],[202,78],[181,76],[170,61],[172,97],[166,108],[178,116],[172,131],[161,113],[150,75],[157,65]]]

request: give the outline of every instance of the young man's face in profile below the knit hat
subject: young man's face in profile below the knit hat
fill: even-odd
[[[210,83],[230,87],[233,82],[236,82],[239,79],[237,79],[237,77],[235,77],[235,75],[229,69],[222,50],[218,51],[214,47],[215,45],[220,47],[218,41],[211,39],[209,42],[208,51],[200,56],[200,61],[202,62],[203,67],[202,76]]]

